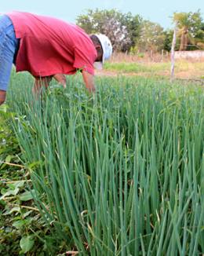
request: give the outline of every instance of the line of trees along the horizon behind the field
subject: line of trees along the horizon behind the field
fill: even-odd
[[[171,49],[173,30],[164,28],[140,15],[122,13],[116,9],[89,9],[79,15],[76,23],[88,34],[107,35],[116,51],[141,53]],[[173,13],[177,27],[176,50],[204,49],[204,21],[200,10],[195,13]]]

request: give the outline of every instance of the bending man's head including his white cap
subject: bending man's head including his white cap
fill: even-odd
[[[111,41],[109,38],[107,38],[106,35],[102,34],[95,34],[95,35],[90,35],[90,38],[97,49],[97,68],[101,69],[104,60],[108,60],[111,57],[112,54],[112,45]]]

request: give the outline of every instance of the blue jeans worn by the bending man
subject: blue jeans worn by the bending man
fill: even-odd
[[[0,90],[6,91],[12,64],[15,64],[20,39],[16,38],[12,21],[0,15]]]

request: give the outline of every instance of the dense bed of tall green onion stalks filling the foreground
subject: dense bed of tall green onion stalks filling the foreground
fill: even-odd
[[[204,253],[202,87],[106,78],[93,97],[75,78],[35,101],[25,79],[13,78],[7,104],[61,251]]]

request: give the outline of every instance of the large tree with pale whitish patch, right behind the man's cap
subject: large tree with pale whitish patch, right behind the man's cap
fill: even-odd
[[[78,26],[86,33],[102,33],[107,35],[118,51],[129,51],[135,45],[140,31],[141,17],[131,13],[121,13],[115,9],[91,10],[86,15],[80,15],[76,19]]]

